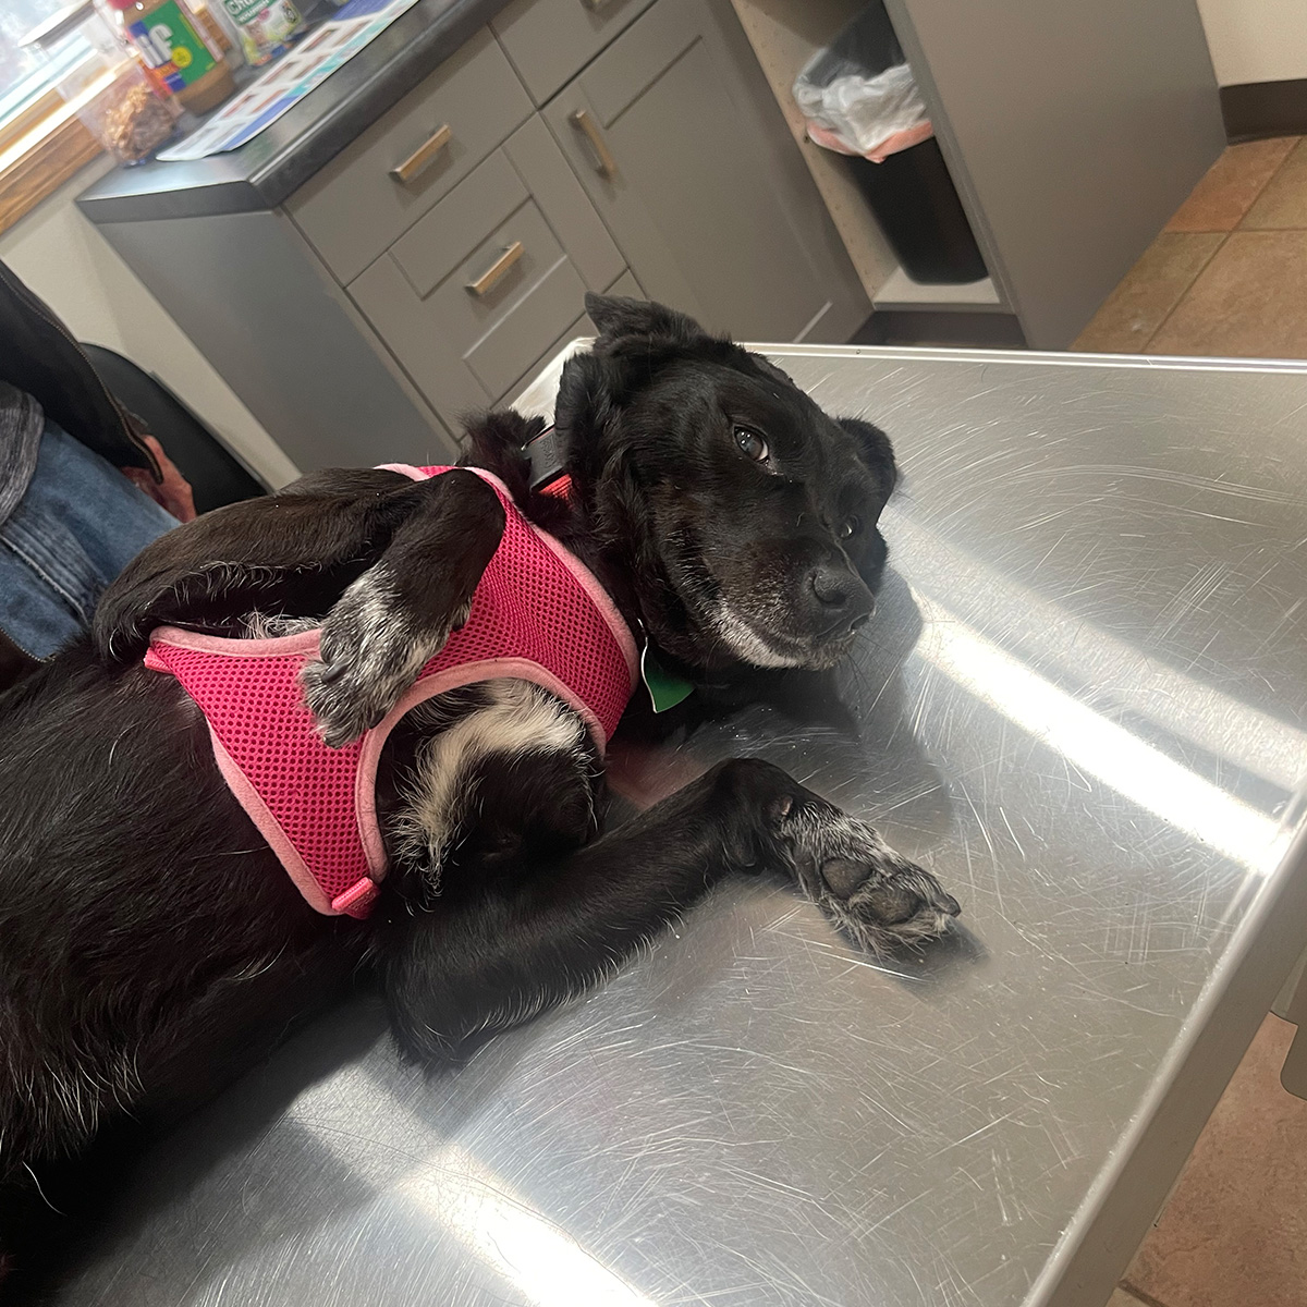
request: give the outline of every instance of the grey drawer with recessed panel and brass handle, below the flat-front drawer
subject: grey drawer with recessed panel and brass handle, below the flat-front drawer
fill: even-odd
[[[503,214],[512,199],[505,165],[498,153],[488,159],[349,288],[413,383],[451,421],[503,395],[576,318],[586,295],[524,190]],[[472,243],[478,204],[489,207]],[[481,294],[469,289],[478,281]]]

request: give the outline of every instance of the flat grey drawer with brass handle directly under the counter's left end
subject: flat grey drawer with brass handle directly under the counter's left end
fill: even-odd
[[[286,209],[349,282],[529,114],[508,60],[482,30],[302,186]],[[401,180],[395,170],[410,161]]]

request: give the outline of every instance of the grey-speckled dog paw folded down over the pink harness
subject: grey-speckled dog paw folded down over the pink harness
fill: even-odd
[[[323,621],[319,660],[299,673],[323,740],[340,749],[375,727],[468,620],[471,606],[423,626],[399,601],[384,570],[363,572]]]

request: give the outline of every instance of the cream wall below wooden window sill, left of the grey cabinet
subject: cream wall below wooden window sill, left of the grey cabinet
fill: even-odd
[[[108,162],[84,169],[0,235],[0,260],[80,340],[153,372],[273,486],[298,474],[254,414],[73,204]]]

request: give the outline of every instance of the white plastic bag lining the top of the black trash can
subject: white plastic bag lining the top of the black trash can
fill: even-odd
[[[817,54],[793,86],[808,135],[844,154],[880,162],[932,135],[912,69],[884,4],[868,5]]]

